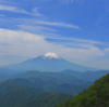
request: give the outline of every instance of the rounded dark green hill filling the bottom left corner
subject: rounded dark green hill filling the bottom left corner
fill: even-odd
[[[31,82],[24,79],[8,80],[0,83],[0,107],[17,107],[32,97],[44,93],[29,84]]]

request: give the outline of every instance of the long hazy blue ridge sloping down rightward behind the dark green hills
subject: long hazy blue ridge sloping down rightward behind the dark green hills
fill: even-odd
[[[23,78],[23,79],[29,79],[29,80],[36,80],[36,81],[45,81],[45,83],[70,83],[70,84],[77,84],[77,85],[85,85],[90,84],[92,82],[88,82],[86,80],[82,80],[78,78],[73,77],[72,75],[68,76],[60,72],[46,72],[46,71],[26,71],[22,73],[14,75],[12,77],[14,78]]]

